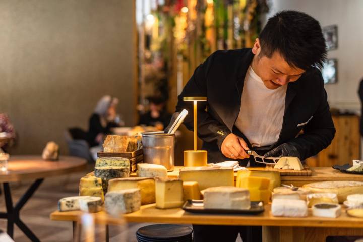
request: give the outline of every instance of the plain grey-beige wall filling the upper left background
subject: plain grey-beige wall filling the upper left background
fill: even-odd
[[[67,153],[67,127],[88,127],[98,99],[119,98],[135,123],[134,0],[0,1],[0,112],[19,134],[13,154],[47,141]]]

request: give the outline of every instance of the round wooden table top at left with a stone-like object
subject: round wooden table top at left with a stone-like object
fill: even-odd
[[[39,179],[82,171],[87,161],[72,156],[60,156],[58,161],[45,161],[39,155],[11,155],[8,172],[0,172],[0,183]]]

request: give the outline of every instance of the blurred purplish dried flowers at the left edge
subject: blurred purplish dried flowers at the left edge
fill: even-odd
[[[14,142],[15,137],[14,126],[10,122],[9,116],[0,113],[0,153],[7,152],[7,148]]]

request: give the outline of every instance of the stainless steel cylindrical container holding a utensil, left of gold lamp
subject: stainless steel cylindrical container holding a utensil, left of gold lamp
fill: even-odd
[[[174,170],[175,134],[164,132],[142,133],[144,163],[163,165],[168,171]]]

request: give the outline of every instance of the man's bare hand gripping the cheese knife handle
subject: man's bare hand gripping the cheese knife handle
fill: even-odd
[[[235,160],[249,158],[250,156],[245,150],[249,150],[246,142],[233,133],[227,135],[221,145],[222,154],[225,157]]]

